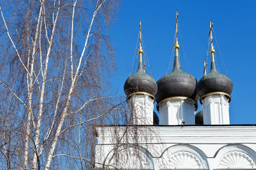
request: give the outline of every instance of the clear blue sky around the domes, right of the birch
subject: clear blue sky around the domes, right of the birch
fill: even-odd
[[[256,1],[253,0],[124,0],[117,24],[111,30],[118,65],[113,88],[125,96],[123,85],[131,70],[140,21],[153,78],[157,81],[166,74],[173,48],[176,9],[190,74],[198,81],[203,76],[209,20],[212,20],[228,76],[234,85],[230,124],[256,124]],[[215,39],[213,45],[220,72],[226,74]],[[183,71],[188,72],[182,48],[180,59]]]

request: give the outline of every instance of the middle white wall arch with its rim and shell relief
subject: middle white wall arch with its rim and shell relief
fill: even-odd
[[[178,144],[162,154],[161,169],[209,169],[207,157],[197,147]]]

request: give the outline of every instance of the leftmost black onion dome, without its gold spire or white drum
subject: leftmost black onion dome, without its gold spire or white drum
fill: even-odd
[[[144,92],[153,96],[157,94],[157,83],[153,77],[145,74],[142,62],[139,62],[137,72],[126,79],[124,91],[127,96],[135,92]]]

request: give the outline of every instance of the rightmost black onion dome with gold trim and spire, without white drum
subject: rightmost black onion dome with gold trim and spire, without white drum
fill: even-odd
[[[212,28],[212,25],[211,25]],[[210,29],[210,38],[211,38],[211,49],[210,49],[210,54],[211,54],[211,71],[209,74],[204,75],[196,87],[196,91],[198,95],[200,96],[200,102],[202,104],[202,99],[204,97],[212,95],[212,94],[223,94],[225,95],[228,99],[229,102],[231,101],[231,93],[233,90],[233,82],[225,76],[224,74],[218,73],[216,70],[215,66],[215,61],[214,61],[214,53],[215,50],[212,46],[212,36],[211,36],[211,29]]]

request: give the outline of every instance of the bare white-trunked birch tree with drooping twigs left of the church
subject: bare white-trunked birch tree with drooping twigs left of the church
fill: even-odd
[[[87,169],[92,164],[91,125],[119,122],[116,110],[123,104],[109,91],[116,65],[108,30],[119,3],[0,3],[3,168]]]

